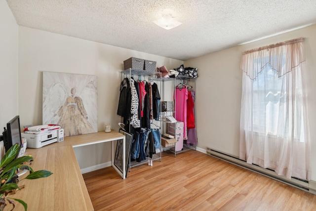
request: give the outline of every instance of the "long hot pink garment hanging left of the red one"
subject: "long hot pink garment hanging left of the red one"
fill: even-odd
[[[176,98],[175,98],[176,97]],[[175,119],[183,122],[183,138],[187,139],[187,99],[188,89],[186,86],[182,88],[176,87],[176,92],[173,93],[173,99],[175,99]]]

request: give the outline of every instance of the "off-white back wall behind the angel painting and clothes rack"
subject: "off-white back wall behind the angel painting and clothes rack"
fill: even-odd
[[[42,124],[42,72],[97,76],[98,131],[105,124],[118,130],[120,72],[123,61],[137,57],[157,66],[179,67],[183,61],[112,45],[19,27],[19,111],[21,126]],[[111,144],[75,148],[81,169],[110,161]],[[88,159],[87,159],[88,158]]]

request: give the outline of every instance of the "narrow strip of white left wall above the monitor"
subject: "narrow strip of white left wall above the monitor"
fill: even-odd
[[[5,0],[0,0],[0,134],[18,115],[18,25]]]

